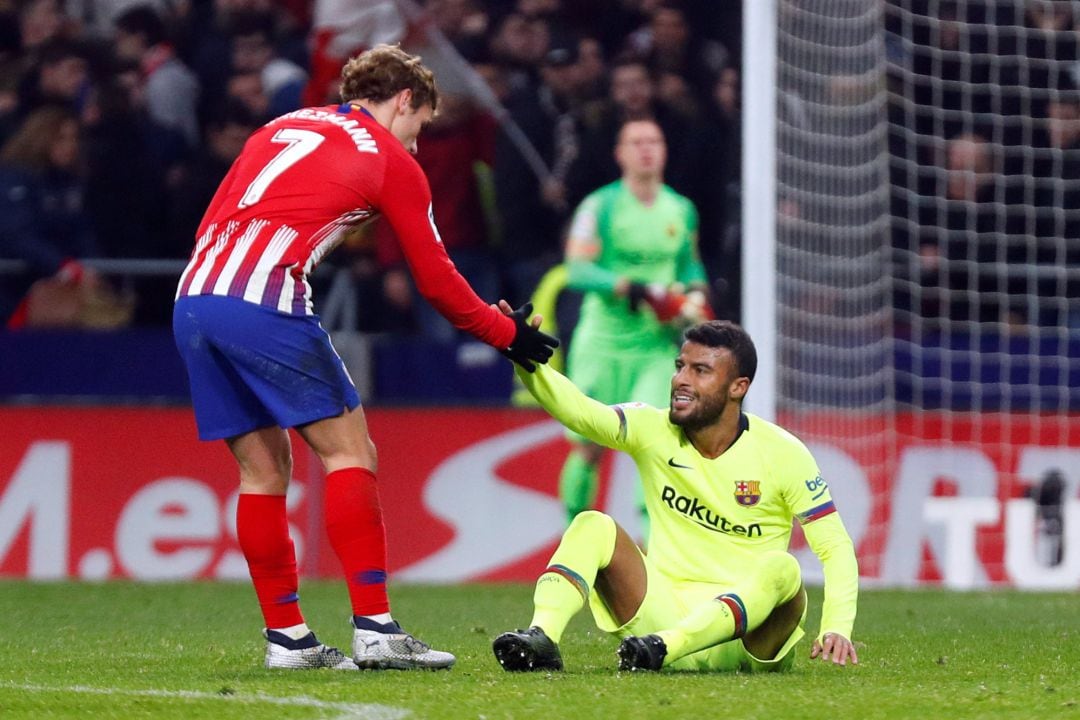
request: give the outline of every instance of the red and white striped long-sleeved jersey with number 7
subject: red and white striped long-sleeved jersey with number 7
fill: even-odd
[[[311,271],[348,228],[379,214],[420,294],[455,326],[509,347],[513,322],[476,297],[446,255],[423,171],[349,105],[289,112],[252,134],[203,216],[176,297],[229,296],[311,315]]]

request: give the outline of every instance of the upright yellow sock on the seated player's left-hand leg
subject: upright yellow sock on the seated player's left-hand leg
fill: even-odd
[[[615,536],[615,520],[604,513],[586,511],[573,518],[537,580],[529,625],[559,641],[570,619],[585,607],[596,573],[611,561]]]

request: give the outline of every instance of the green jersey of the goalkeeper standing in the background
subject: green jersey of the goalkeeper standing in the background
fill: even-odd
[[[592,258],[568,258],[568,285],[585,296],[575,337],[591,348],[671,347],[676,332],[642,303],[631,312],[613,294],[619,277],[664,287],[705,283],[698,256],[698,212],[688,199],[660,186],[648,205],[617,180],[586,196],[570,223],[571,243],[589,247]]]

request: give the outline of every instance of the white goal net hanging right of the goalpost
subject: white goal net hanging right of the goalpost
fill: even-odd
[[[865,578],[1080,585],[1080,3],[777,5],[781,421]]]

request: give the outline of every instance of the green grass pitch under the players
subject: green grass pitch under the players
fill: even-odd
[[[339,583],[301,586],[309,624],[347,648]],[[524,585],[395,586],[395,615],[455,652],[449,671],[261,667],[240,583],[0,582],[0,718],[1078,718],[1076,593],[864,590],[858,667],[779,676],[619,674],[617,642],[575,620],[566,671],[508,674],[490,651],[528,621]],[[811,588],[809,633],[820,589]],[[809,634],[808,633],[808,634]]]

